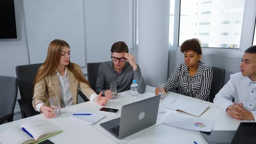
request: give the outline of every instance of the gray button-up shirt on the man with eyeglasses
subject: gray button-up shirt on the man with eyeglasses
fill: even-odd
[[[113,68],[113,62],[102,62],[98,68],[98,76],[95,84],[95,92],[99,94],[103,91],[103,94],[106,90],[109,89],[109,84],[115,83],[117,85],[117,93],[127,91],[130,89],[132,80],[137,80],[139,85],[138,92],[144,93],[146,89],[146,84],[141,74],[141,69],[139,65],[138,68],[134,71],[133,67],[129,62],[125,62],[125,67],[122,72],[119,74]]]

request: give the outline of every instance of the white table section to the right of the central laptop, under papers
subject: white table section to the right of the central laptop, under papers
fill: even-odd
[[[186,97],[172,92],[168,92],[166,96],[172,95]],[[187,99],[194,99],[200,103],[210,106],[199,118],[215,121],[213,130],[236,130],[240,122],[243,122],[229,117],[225,111],[221,110],[217,105],[211,102],[201,101],[195,98],[191,99],[191,97],[187,97]],[[194,117],[193,115],[185,112],[181,112],[180,115]],[[158,116],[160,116],[160,114],[158,114]],[[158,122],[161,123],[161,121]],[[157,127],[141,134],[126,144],[194,144],[194,141],[196,141],[197,144],[208,144],[199,131],[189,131],[181,128],[174,128],[166,124],[159,124]]]

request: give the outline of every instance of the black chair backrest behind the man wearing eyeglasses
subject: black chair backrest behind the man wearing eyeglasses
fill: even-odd
[[[102,62],[92,62],[87,63],[87,74],[88,74],[88,82],[91,85],[91,88],[95,91],[95,83],[98,76],[98,67]]]

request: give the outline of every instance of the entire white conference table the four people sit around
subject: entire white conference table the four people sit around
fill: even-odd
[[[148,86],[146,92],[154,93],[154,87]],[[152,94],[151,94],[152,96]],[[200,118],[215,121],[213,130],[236,130],[241,121],[230,118],[226,115],[225,111],[222,111],[216,105],[211,102],[202,101],[196,98],[187,97],[184,95],[176,94],[173,92],[167,92],[167,95],[160,100],[160,104],[169,96],[183,97],[187,100],[198,101],[207,105],[210,105],[207,111],[200,116]],[[138,95],[140,98],[140,94]],[[137,99],[136,101],[139,101]],[[44,118],[43,114],[36,115],[29,118],[24,118],[18,121],[13,121],[7,124],[0,125],[0,132],[7,130],[8,128],[18,126],[20,127],[25,121],[36,119],[47,119],[48,121],[56,124],[63,130],[62,133],[53,137],[49,137],[49,140],[55,144],[69,144],[69,143],[95,143],[95,144],[194,144],[196,141],[198,144],[207,144],[207,141],[203,138],[199,131],[188,131],[180,128],[174,128],[165,124],[161,124],[164,118],[170,113],[179,113],[180,115],[187,115],[188,117],[194,117],[184,112],[173,111],[171,109],[159,107],[164,110],[164,113],[158,114],[156,124],[121,140],[118,140],[99,124],[105,121],[119,118],[121,116],[121,107],[130,103],[130,98],[125,95],[118,94],[118,98],[109,100],[105,107],[119,109],[117,114],[110,114],[106,112],[98,111],[102,108],[101,105],[97,105],[92,101],[87,101],[78,105],[72,105],[70,107],[62,108],[62,115],[56,118]],[[76,111],[92,111],[105,115],[105,118],[94,125],[82,123],[70,119],[69,116]],[[12,136],[13,137],[13,136]],[[11,137],[10,137],[11,138]]]

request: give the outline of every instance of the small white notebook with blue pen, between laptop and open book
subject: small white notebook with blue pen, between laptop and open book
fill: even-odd
[[[98,121],[102,120],[105,115],[98,114],[92,111],[76,111],[74,114],[92,114],[92,115],[71,115],[69,118],[72,118],[76,121],[81,121],[86,124],[93,125]]]

